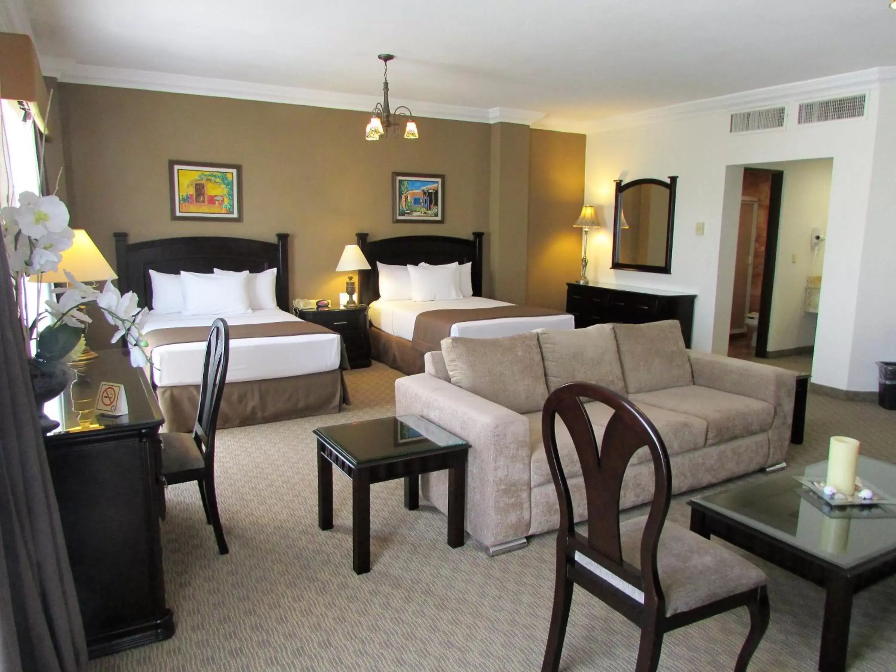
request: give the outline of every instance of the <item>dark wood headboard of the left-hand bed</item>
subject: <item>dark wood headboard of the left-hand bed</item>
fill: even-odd
[[[276,243],[218,236],[159,238],[128,243],[127,234],[115,235],[118,289],[134,291],[140,306],[152,307],[150,271],[160,273],[211,273],[277,269],[277,306],[289,312],[289,234],[277,234]]]

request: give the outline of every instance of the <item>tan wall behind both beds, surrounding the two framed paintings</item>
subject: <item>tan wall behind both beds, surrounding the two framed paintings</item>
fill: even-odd
[[[114,231],[290,237],[291,297],[335,300],[357,231],[372,239],[488,230],[490,128],[419,119],[420,139],[364,140],[363,112],[63,83],[68,203],[114,265]],[[172,221],[168,159],[243,167],[244,221]],[[392,223],[392,171],[445,176],[444,224]],[[488,290],[489,288],[487,288]]]

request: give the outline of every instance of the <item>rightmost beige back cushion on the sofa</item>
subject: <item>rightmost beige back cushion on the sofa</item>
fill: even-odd
[[[616,324],[616,347],[629,394],[694,383],[681,324]]]

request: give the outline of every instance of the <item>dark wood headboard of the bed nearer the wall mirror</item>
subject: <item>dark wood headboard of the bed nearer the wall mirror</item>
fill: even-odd
[[[450,236],[398,236],[367,240],[368,234],[358,233],[358,247],[370,264],[369,271],[358,273],[358,300],[369,304],[380,297],[380,274],[376,263],[414,264],[421,262],[468,263],[472,262],[470,275],[473,280],[473,296],[482,296],[482,231],[473,231],[472,238]]]

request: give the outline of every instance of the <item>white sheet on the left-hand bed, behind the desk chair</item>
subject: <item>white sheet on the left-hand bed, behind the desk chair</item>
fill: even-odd
[[[255,310],[235,315],[146,315],[144,332],[169,327],[211,326],[223,317],[229,325],[271,322],[302,322],[278,308]],[[153,378],[159,387],[198,385],[202,380],[205,341],[172,343],[152,351]],[[271,336],[259,339],[230,340],[228,383],[248,380],[287,378],[291,375],[317,374],[339,368],[340,337],[335,333],[309,333],[300,336]]]

